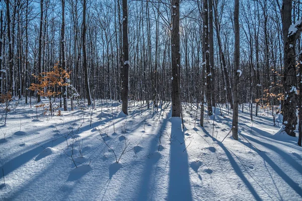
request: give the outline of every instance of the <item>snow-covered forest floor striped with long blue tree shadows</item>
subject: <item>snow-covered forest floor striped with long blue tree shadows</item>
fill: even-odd
[[[182,129],[169,103],[130,102],[125,116],[98,100],[93,112],[50,117],[12,102],[6,126],[1,110],[0,200],[302,200],[297,138],[278,132],[271,112],[252,122],[241,107],[235,141],[224,107],[202,128],[196,104],[183,104]]]

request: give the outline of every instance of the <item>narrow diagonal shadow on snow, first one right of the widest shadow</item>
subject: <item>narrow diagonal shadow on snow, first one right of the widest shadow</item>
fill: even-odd
[[[215,141],[216,139],[213,138],[207,131],[205,131],[203,129],[204,133],[206,135],[208,135],[210,138],[212,138],[213,141]],[[245,175],[243,174],[243,172],[241,171],[239,165],[237,164],[237,162],[235,161],[234,157],[232,156],[231,152],[228,150],[228,148],[226,148],[221,142],[217,141],[217,144],[223,149],[223,151],[225,152],[226,156],[228,156],[229,161],[231,163],[231,165],[234,168],[234,171],[236,172],[236,174],[241,178],[241,180],[244,182],[244,184],[247,186],[247,188],[250,190],[250,192],[252,193],[252,195],[255,197],[256,200],[262,200],[260,198],[260,196],[258,195],[258,193],[256,192],[255,188],[252,186],[252,184],[249,182],[249,180],[245,177]]]

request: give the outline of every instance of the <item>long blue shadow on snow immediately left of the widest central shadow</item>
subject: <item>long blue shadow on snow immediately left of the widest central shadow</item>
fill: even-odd
[[[170,111],[170,113],[171,113],[171,111]],[[170,113],[169,113],[169,115],[170,115]],[[161,116],[159,116],[159,118],[160,117]],[[154,166],[158,163],[158,161],[161,158],[161,154],[160,154],[160,152],[158,152],[158,146],[159,146],[158,141],[157,141],[157,139],[159,137],[158,134],[160,134],[162,128],[166,127],[168,121],[169,121],[168,118],[163,120],[162,125],[158,128],[155,136],[150,141],[151,143],[149,145],[149,150],[148,150],[149,156],[148,156],[148,159],[146,160],[144,171],[142,173],[143,178],[139,185],[140,189],[139,189],[139,193],[138,193],[136,200],[148,200],[149,195],[152,194],[152,191],[154,190],[153,188],[154,188],[155,183],[154,183],[154,181],[152,181],[151,177],[155,176],[153,174]]]

